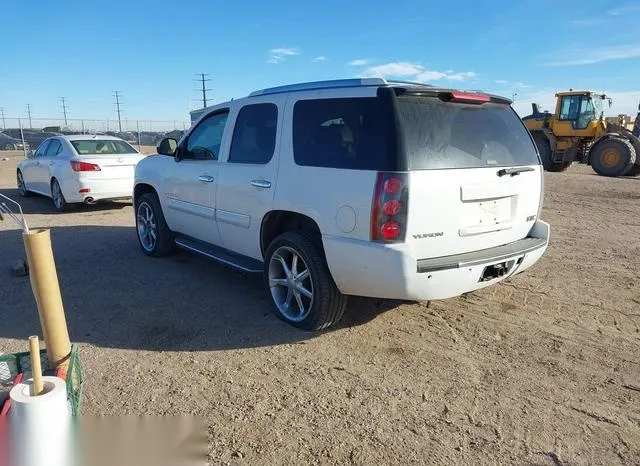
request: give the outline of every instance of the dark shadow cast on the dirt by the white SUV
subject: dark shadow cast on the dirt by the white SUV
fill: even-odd
[[[272,346],[317,336],[276,317],[259,275],[187,253],[147,257],[133,227],[54,227],[51,236],[74,342],[199,351]],[[0,337],[26,339],[40,332],[29,278],[10,276],[8,264],[24,257],[20,232],[0,231]],[[336,330],[368,322],[388,306],[393,305],[357,298]]]

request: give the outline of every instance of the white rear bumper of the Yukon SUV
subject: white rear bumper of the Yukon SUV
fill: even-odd
[[[413,257],[405,245],[323,236],[327,263],[344,294],[424,301],[485,288],[524,272],[545,253],[549,224],[537,221],[527,238],[495,248],[433,259]],[[485,278],[505,264],[504,275]]]

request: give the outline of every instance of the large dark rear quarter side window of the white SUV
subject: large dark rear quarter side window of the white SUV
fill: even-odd
[[[300,100],[293,108],[296,164],[353,170],[390,170],[388,125],[375,97]]]

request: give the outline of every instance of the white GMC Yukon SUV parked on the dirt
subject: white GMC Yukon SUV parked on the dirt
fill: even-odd
[[[145,254],[264,274],[296,327],[347,295],[444,299],[540,259],[543,170],[502,97],[383,79],[265,89],[205,109],[136,167]]]

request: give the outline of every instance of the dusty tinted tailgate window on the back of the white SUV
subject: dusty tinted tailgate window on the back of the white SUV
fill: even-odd
[[[508,105],[400,96],[398,116],[412,170],[540,163],[527,129]]]

